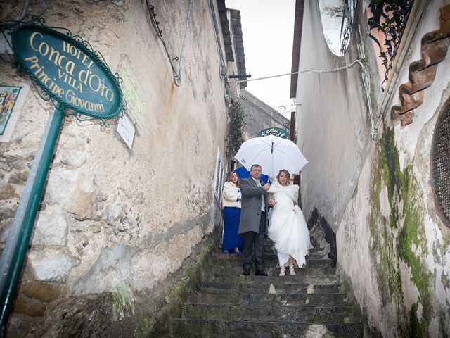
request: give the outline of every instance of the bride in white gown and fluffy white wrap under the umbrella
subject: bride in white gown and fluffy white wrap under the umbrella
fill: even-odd
[[[280,276],[285,275],[285,265],[289,263],[289,275],[294,276],[294,260],[302,268],[305,256],[312,248],[309,230],[302,210],[297,206],[298,186],[289,185],[290,174],[282,169],[269,189],[269,204],[274,206],[269,223],[269,237],[275,242]]]

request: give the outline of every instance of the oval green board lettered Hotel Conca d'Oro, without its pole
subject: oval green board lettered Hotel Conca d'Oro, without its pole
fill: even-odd
[[[88,42],[34,23],[12,32],[20,68],[65,108],[106,120],[123,109],[117,77]]]

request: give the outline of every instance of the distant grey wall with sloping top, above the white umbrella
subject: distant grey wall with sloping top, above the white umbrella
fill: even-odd
[[[245,113],[245,140],[257,137],[258,132],[269,127],[279,127],[289,132],[290,121],[250,92],[240,91],[240,104]]]

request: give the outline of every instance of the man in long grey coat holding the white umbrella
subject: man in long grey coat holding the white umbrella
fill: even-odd
[[[264,184],[261,177],[262,168],[254,164],[250,168],[250,177],[240,180],[242,192],[242,209],[238,233],[244,239],[243,275],[250,275],[252,247],[255,244],[256,276],[266,276],[262,265],[262,249],[267,230],[267,190],[270,184]]]

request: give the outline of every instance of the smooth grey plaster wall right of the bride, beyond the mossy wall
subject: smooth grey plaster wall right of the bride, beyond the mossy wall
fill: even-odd
[[[321,32],[318,1],[305,0],[299,70],[339,68],[359,58],[356,44],[343,58],[332,54]],[[370,138],[360,73],[354,65],[337,73],[298,75],[297,144],[309,161],[302,169],[303,211],[309,215],[316,206],[335,231]]]

